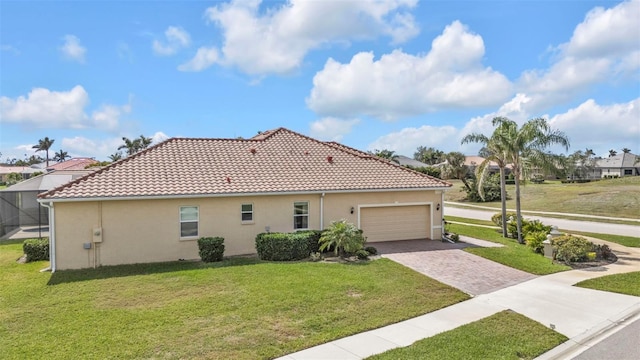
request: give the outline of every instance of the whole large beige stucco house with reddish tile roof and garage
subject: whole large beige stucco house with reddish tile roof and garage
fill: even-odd
[[[368,242],[441,239],[451,184],[280,128],[242,139],[173,138],[41,194],[51,269],[255,253],[257,234],[346,219]]]

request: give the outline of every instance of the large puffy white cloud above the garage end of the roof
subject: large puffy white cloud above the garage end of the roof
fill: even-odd
[[[501,73],[482,65],[482,37],[458,21],[426,55],[395,50],[374,60],[361,52],[348,64],[329,59],[313,79],[307,105],[321,115],[383,120],[449,108],[493,106],[512,94]]]

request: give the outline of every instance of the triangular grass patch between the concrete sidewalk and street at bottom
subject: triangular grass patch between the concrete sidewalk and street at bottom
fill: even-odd
[[[533,359],[567,340],[506,310],[369,359]]]

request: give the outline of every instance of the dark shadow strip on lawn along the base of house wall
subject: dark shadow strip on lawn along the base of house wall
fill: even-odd
[[[96,269],[59,270],[51,274],[47,285],[58,285],[78,281],[110,279],[125,276],[150,275],[167,272],[244,266],[264,263],[255,257],[233,257],[220,262],[172,261],[150,264],[101,266]]]

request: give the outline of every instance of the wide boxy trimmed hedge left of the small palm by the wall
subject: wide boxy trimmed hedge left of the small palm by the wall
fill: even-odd
[[[256,252],[262,260],[291,261],[309,256],[309,234],[261,233],[256,236]]]

